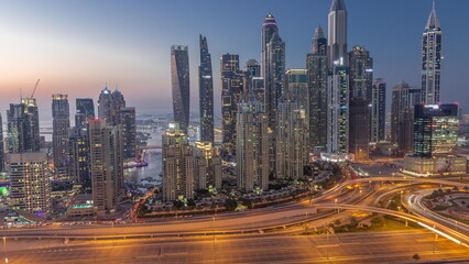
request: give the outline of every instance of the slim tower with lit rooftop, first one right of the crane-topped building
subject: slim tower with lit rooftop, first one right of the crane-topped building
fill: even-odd
[[[58,169],[65,168],[67,160],[67,139],[70,129],[70,109],[67,95],[52,96],[52,153],[54,166]]]

